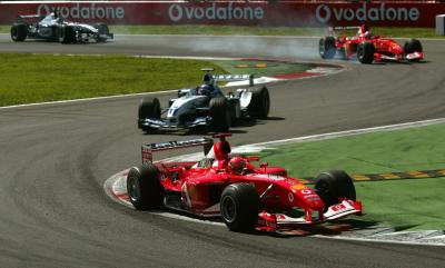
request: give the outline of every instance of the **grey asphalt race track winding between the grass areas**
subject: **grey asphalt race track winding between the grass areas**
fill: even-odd
[[[235,127],[233,145],[445,117],[445,42],[423,44],[423,63],[340,61],[339,75],[270,85],[270,118]],[[320,61],[316,48],[310,38],[117,36],[62,46],[0,36],[1,52]],[[185,138],[142,135],[139,100],[0,109],[0,267],[445,267],[444,247],[235,234],[111,201],[103,181],[139,163],[141,143]]]

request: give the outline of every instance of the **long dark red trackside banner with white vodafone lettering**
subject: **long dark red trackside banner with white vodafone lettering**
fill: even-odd
[[[445,3],[298,3],[298,2],[1,2],[0,23],[19,14],[60,16],[110,24],[244,24],[244,26],[370,26],[435,27]]]

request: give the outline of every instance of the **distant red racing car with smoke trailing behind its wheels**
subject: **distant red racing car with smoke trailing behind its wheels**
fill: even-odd
[[[358,32],[355,37],[337,37],[336,29],[358,29]],[[318,51],[323,59],[339,56],[347,60],[357,58],[362,63],[383,60],[407,62],[419,61],[424,58],[421,41],[412,39],[400,46],[394,39],[373,36],[366,26],[329,28],[329,36],[319,40]]]

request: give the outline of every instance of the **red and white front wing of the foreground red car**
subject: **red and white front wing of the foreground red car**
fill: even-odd
[[[362,215],[362,202],[343,200],[337,205],[330,206],[325,212],[306,211],[304,217],[293,218],[284,214],[269,214],[263,211],[258,215],[258,229],[279,230],[288,229],[300,225],[316,225],[329,220],[346,217],[348,215]]]

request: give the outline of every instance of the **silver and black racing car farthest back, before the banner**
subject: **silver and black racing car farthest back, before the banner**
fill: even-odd
[[[65,20],[57,12],[48,16],[19,16],[11,27],[11,39],[22,42],[26,39],[41,39],[61,43],[106,42],[113,39],[105,23],[77,23]]]

